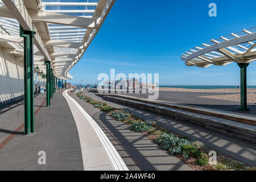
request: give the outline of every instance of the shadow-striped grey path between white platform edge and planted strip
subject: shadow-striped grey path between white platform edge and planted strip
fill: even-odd
[[[187,164],[163,151],[157,144],[141,133],[132,131],[125,123],[113,119],[106,113],[80,100],[76,93],[71,93],[71,96],[92,115],[130,170],[192,170]],[[95,95],[90,96],[97,97]],[[100,99],[97,97],[97,100]]]

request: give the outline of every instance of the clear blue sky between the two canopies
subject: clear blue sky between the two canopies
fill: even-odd
[[[217,17],[208,15],[216,3]],[[159,85],[239,85],[240,69],[187,67],[180,56],[200,46],[255,27],[256,1],[117,0],[79,63],[70,71],[73,84],[96,84],[100,73],[159,73]],[[256,61],[247,69],[256,85]]]

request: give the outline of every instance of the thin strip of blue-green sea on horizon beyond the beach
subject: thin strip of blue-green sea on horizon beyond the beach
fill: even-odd
[[[167,88],[182,88],[182,89],[237,89],[237,86],[159,86],[159,87],[167,87]],[[249,89],[255,89],[256,86],[247,86]]]

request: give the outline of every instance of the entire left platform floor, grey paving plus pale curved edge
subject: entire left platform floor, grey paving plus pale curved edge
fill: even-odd
[[[24,103],[0,110],[0,170],[128,170],[96,122],[66,92],[35,97],[35,133],[24,135]],[[39,165],[39,152],[46,165]]]

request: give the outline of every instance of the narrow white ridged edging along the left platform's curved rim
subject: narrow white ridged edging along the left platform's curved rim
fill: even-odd
[[[106,154],[109,157],[109,160],[115,171],[129,171],[126,164],[123,162],[121,156],[118,154],[117,150],[115,150],[113,144],[110,142],[108,137],[106,137],[105,133],[101,130],[100,126],[94,121],[92,117],[72,98],[67,94],[68,90],[63,92],[63,96],[68,97],[81,111],[81,113],[88,119],[90,125],[92,125],[95,133],[101,141],[102,146],[104,147]],[[67,98],[66,98],[67,100]],[[84,165],[85,166],[85,165]]]

